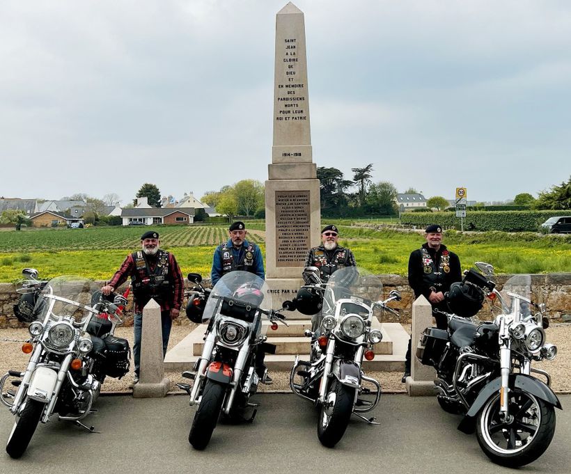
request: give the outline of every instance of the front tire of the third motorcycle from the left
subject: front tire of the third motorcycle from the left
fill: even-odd
[[[322,445],[333,448],[343,438],[349,425],[355,389],[334,379],[329,386],[326,402],[320,408],[318,438]]]

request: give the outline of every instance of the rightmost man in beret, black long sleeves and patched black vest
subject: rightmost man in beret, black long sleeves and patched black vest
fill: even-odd
[[[458,255],[442,244],[442,227],[432,224],[425,229],[426,242],[409,257],[409,285],[414,297],[421,294],[430,301],[432,309],[448,311],[444,293],[450,285],[462,281],[462,269]],[[433,313],[439,329],[446,329],[448,322],[444,315]],[[410,375],[410,341],[405,361],[405,375],[402,382]]]

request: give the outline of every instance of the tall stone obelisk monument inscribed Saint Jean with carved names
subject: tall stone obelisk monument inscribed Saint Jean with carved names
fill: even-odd
[[[266,280],[274,306],[302,284],[308,249],[320,242],[320,182],[311,152],[304,14],[276,15],[274,146],[265,182]]]

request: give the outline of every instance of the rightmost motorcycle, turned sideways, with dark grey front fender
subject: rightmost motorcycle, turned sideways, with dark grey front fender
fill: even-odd
[[[436,369],[442,409],[464,415],[458,429],[476,432],[494,463],[518,467],[538,459],[554,436],[561,403],[549,374],[531,364],[552,360],[557,347],[545,340],[549,319],[545,304],[531,301],[531,275],[509,278],[501,291],[493,277],[492,265],[476,262],[453,283],[445,295],[448,329],[425,329],[416,357]],[[499,314],[493,322],[469,320],[485,297]]]

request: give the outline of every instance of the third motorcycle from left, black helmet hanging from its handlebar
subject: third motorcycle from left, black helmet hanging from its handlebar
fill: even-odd
[[[365,375],[362,363],[363,357],[373,360],[373,347],[382,340],[382,331],[373,327],[375,309],[396,314],[387,303],[400,301],[400,293],[393,290],[381,301],[380,280],[357,267],[338,269],[327,283],[320,281],[317,267],[306,267],[303,277],[306,285],[294,299],[295,307],[313,314],[322,305],[321,321],[315,331],[305,332],[311,337],[310,360],[295,358],[290,387],[318,406],[318,438],[332,448],[343,437],[352,413],[369,424],[379,424],[363,416],[377,406],[381,386]]]

